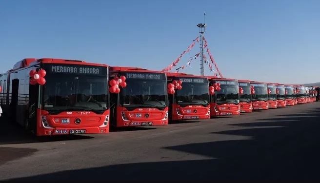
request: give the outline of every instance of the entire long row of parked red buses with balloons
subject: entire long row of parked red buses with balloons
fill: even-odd
[[[317,89],[77,60],[23,59],[0,74],[0,105],[13,122],[37,136],[90,134],[108,133],[110,125],[167,125],[168,120],[313,102]]]

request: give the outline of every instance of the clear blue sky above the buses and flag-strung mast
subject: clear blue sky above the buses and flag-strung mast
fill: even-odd
[[[23,58],[161,70],[198,36],[204,11],[224,77],[320,81],[319,0],[1,0],[0,73]],[[199,74],[199,60],[182,71]]]

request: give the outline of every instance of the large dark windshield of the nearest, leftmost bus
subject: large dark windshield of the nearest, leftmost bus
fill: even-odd
[[[75,110],[102,114],[108,109],[106,67],[90,66],[90,68],[100,70],[100,74],[91,75],[80,73],[80,69],[75,69],[74,73],[56,73],[50,70],[50,67],[51,65],[44,66],[47,71],[46,83],[43,85],[44,110],[50,113]],[[76,68],[77,66],[71,67]]]

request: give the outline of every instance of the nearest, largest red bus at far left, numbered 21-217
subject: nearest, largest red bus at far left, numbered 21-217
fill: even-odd
[[[107,83],[105,64],[23,59],[1,75],[0,104],[37,136],[108,133]]]

